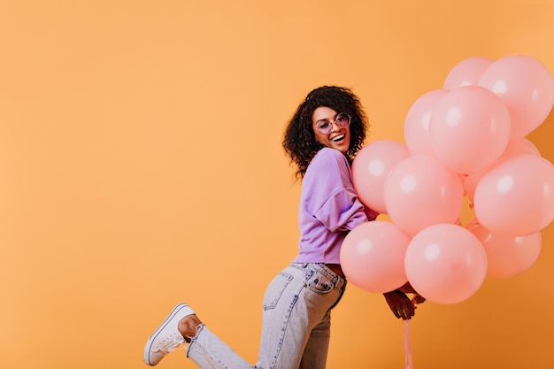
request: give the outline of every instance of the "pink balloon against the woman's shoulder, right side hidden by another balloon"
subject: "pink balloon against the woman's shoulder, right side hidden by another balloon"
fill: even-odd
[[[359,200],[381,214],[388,214],[383,199],[385,179],[396,163],[410,153],[401,142],[380,140],[358,151],[352,162],[352,181]]]

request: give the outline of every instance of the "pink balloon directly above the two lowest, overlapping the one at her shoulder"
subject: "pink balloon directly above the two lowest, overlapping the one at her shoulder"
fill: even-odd
[[[385,181],[389,217],[408,234],[435,223],[455,223],[464,202],[458,175],[430,157],[405,158]]]

